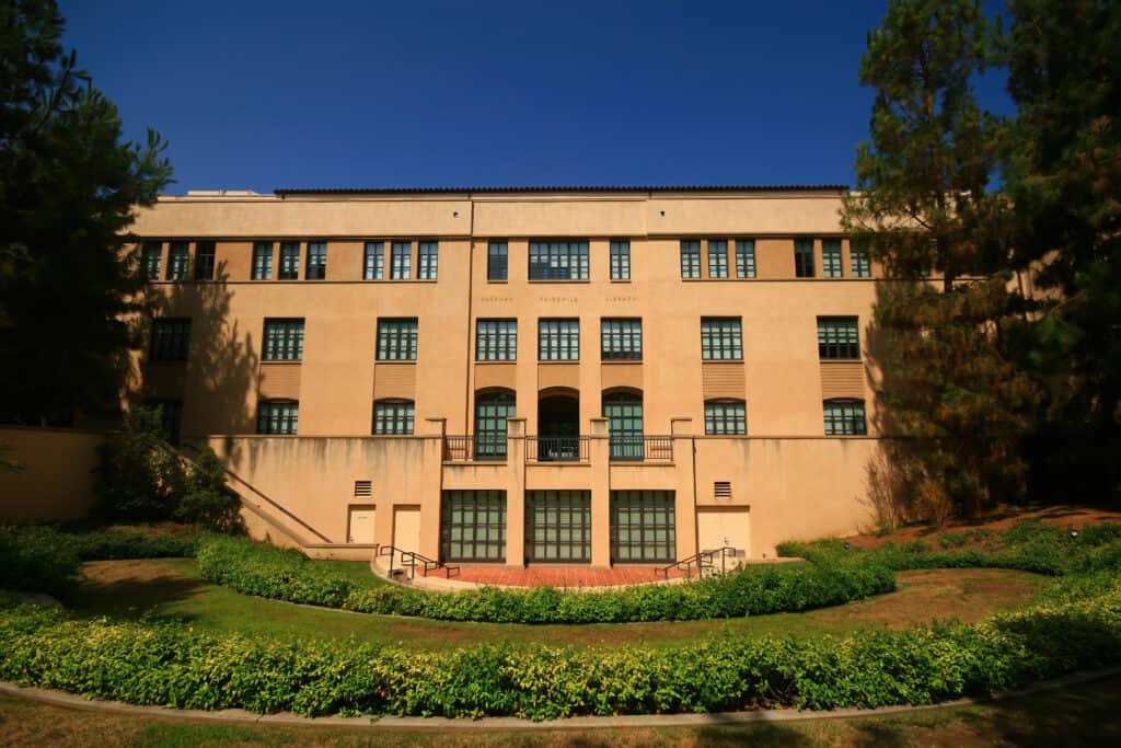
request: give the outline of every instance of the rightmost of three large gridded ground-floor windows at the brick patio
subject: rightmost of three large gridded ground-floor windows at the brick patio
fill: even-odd
[[[677,560],[673,491],[611,491],[612,563]]]

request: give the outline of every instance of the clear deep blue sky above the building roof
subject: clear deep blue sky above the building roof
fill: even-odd
[[[852,184],[882,0],[59,0],[186,190]],[[999,76],[984,101],[1007,111]]]

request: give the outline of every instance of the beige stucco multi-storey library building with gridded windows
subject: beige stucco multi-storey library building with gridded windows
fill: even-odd
[[[844,188],[192,192],[140,211],[132,397],[257,534],[664,563],[869,524]]]

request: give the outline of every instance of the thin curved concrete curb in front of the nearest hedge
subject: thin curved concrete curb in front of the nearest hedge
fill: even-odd
[[[972,707],[994,701],[1016,699],[1035,693],[1057,691],[1071,685],[1092,683],[1102,678],[1121,675],[1121,667],[1108,667],[1091,673],[1075,673],[1049,681],[1041,681],[1019,691],[1004,691],[990,696],[955,699],[939,704],[921,707],[880,707],[879,709],[837,709],[834,711],[813,710],[760,710],[752,712],[713,712],[706,714],[620,714],[617,717],[568,717],[565,719],[534,722],[517,717],[484,717],[478,720],[451,719],[446,717],[300,717],[291,712],[257,714],[243,709],[204,711],[198,709],[172,709],[168,707],[137,707],[120,701],[101,701],[76,696],[65,691],[21,686],[0,681],[0,694],[17,696],[54,707],[65,707],[102,714],[124,717],[150,717],[158,719],[180,719],[197,722],[232,724],[276,724],[285,727],[334,727],[352,729],[377,729],[397,731],[451,732],[458,730],[576,730],[601,728],[645,727],[713,727],[722,724],[751,724],[758,722],[797,722],[822,719],[853,719],[865,717],[890,717],[907,712],[923,712],[935,709]]]

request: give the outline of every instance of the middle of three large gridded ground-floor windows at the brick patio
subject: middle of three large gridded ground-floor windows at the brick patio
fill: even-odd
[[[526,561],[592,560],[592,493],[526,491]]]

